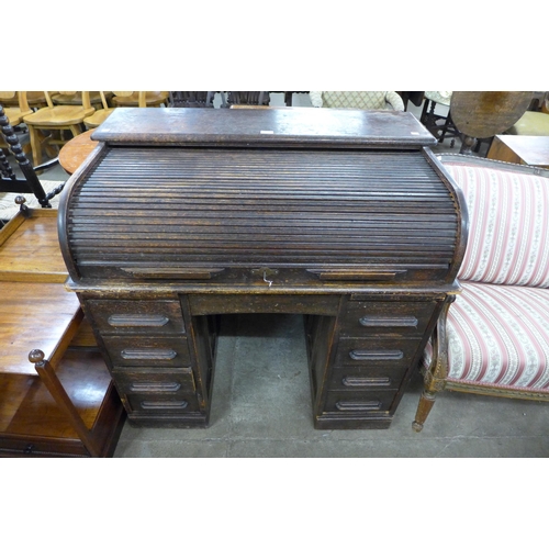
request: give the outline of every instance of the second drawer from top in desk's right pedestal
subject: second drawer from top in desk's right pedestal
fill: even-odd
[[[407,368],[421,343],[412,338],[339,339],[335,366]]]

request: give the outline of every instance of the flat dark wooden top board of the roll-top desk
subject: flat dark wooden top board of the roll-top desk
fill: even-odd
[[[421,148],[435,137],[408,112],[355,109],[121,109],[92,139],[113,145]]]

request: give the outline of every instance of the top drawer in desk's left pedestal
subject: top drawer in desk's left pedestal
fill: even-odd
[[[177,300],[88,300],[86,311],[103,334],[183,334]]]

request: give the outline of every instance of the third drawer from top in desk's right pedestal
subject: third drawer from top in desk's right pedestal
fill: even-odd
[[[399,389],[407,368],[404,366],[357,366],[333,368],[328,389],[363,391]]]

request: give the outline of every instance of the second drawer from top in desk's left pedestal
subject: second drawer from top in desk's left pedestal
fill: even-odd
[[[180,368],[190,365],[187,337],[103,336],[112,367]]]

